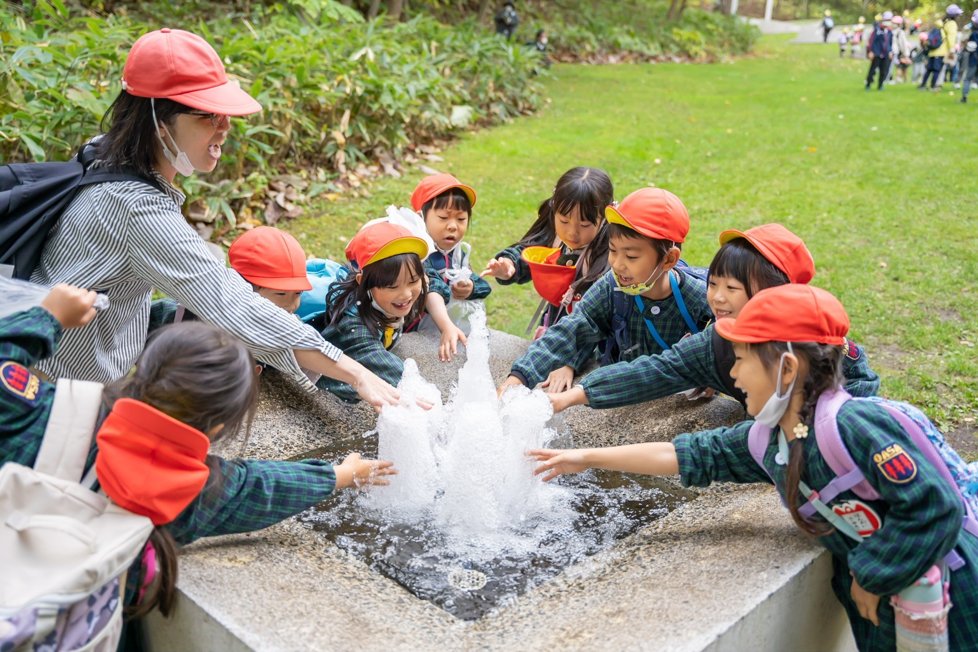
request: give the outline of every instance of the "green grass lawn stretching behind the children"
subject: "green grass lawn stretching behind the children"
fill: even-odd
[[[813,283],[846,306],[881,393],[944,428],[973,424],[978,108],[911,85],[867,93],[867,63],[788,38],[765,37],[733,64],[556,65],[548,109],[467,135],[433,164],[478,193],[473,262],[518,239],[579,164],[607,170],[618,198],[649,184],[680,196],[692,264],[709,263],[724,229],[779,222],[811,248]],[[341,260],[344,239],[386,204],[408,204],[419,178],[317,203],[287,228]],[[537,301],[530,285],[497,286],[490,326],[521,335]]]

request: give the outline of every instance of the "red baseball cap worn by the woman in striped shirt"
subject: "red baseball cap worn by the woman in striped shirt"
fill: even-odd
[[[197,34],[164,27],[132,44],[122,68],[122,88],[140,98],[166,98],[192,109],[247,115],[261,105],[228,79],[214,48]]]

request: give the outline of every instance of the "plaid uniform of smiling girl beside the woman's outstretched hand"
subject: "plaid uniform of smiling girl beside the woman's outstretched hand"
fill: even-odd
[[[391,348],[397,343],[401,330],[397,328],[394,331]],[[404,373],[404,361],[383,348],[382,336],[382,332],[379,335],[372,333],[354,311],[344,311],[338,324],[323,329],[323,337],[333,346],[342,347],[343,353],[396,387]],[[353,387],[335,378],[324,375],[316,381],[316,386],[332,392],[347,403],[360,400]]]

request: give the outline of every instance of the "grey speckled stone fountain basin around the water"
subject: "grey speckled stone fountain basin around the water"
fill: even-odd
[[[527,340],[490,331],[497,382]],[[437,339],[402,337],[447,397],[465,357],[441,364]],[[725,398],[668,397],[631,408],[568,410],[577,446],[670,441],[743,417]],[[281,459],[362,434],[376,416],[326,392],[263,375],[251,436],[225,455]],[[673,482],[678,486],[678,478]],[[176,614],[147,622],[152,650],[855,650],[831,594],[831,560],[765,485],[715,485],[698,498],[464,622],[416,598],[297,520],[201,540],[180,558]],[[789,627],[785,627],[790,624]]]

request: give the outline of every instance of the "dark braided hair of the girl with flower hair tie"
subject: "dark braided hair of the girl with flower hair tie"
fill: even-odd
[[[778,362],[781,354],[787,352],[788,345],[785,342],[764,342],[747,346],[757,353],[764,366],[777,377]],[[805,401],[798,411],[798,417],[802,424],[811,429],[815,422],[815,408],[819,403],[819,397],[823,392],[833,390],[845,382],[845,376],[842,374],[843,349],[841,346],[819,342],[792,342],[791,348],[799,360],[804,360],[808,364],[808,372],[802,383]],[[813,537],[824,537],[831,534],[833,528],[830,525],[823,521],[807,521],[798,513],[798,481],[804,474],[805,456],[802,452],[801,439],[795,438],[791,442],[788,465],[784,473],[784,501],[788,505],[795,525],[802,532]]]

